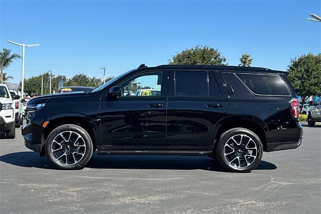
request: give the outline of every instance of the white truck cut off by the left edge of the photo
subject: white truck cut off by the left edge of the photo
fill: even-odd
[[[0,84],[0,131],[7,133],[7,138],[16,137],[16,106],[19,95],[11,96],[7,85]]]

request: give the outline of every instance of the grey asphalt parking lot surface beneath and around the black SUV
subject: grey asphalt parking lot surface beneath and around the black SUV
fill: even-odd
[[[207,156],[98,156],[84,169],[52,168],[0,140],[1,213],[320,213],[321,125],[302,145],[264,153],[251,173],[228,173]]]

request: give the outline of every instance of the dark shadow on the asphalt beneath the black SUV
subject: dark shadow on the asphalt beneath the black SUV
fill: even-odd
[[[15,152],[0,156],[0,161],[21,166],[41,169],[55,169],[46,157],[39,158],[36,152]],[[207,156],[163,156],[163,155],[97,155],[93,154],[86,168],[95,169],[174,169],[225,172],[220,164]],[[273,170],[277,167],[270,162],[261,161],[256,170]]]

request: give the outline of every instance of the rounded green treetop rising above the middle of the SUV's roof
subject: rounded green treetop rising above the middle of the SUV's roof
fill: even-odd
[[[226,57],[218,51],[218,49],[208,46],[196,46],[177,53],[169,60],[169,64],[173,65],[227,65]]]

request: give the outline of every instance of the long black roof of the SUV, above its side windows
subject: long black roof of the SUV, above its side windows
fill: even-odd
[[[143,65],[143,66],[142,66]],[[138,69],[145,69],[147,66],[145,64],[142,64],[138,67]],[[278,71],[278,70],[271,70],[269,68],[262,68],[262,67],[243,67],[243,66],[217,66],[217,65],[158,65],[155,67],[148,67],[150,68],[163,68],[163,69],[187,69],[187,70],[220,70],[220,71],[232,71],[232,72],[249,72],[249,73],[257,73],[257,72],[263,72],[263,73],[283,73],[287,74],[286,71]]]

